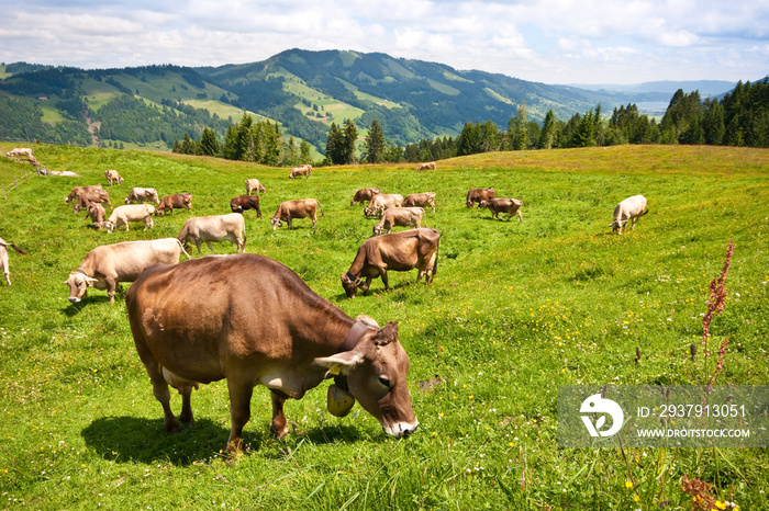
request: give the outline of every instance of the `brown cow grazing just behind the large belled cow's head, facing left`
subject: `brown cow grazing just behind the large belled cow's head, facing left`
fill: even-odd
[[[416,268],[416,282],[424,275],[430,284],[438,268],[439,242],[441,234],[435,229],[404,230],[367,239],[358,248],[347,273],[342,275],[342,287],[347,298],[354,298],[358,287],[368,294],[371,280],[378,276],[382,277],[388,289],[388,270],[408,272]]]

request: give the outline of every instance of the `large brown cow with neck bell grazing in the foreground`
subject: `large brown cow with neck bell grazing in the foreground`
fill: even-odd
[[[398,323],[379,328],[365,316],[352,319],[277,261],[244,253],[158,264],[131,285],[125,304],[169,433],[193,422],[192,388],[224,378],[231,453],[243,448],[256,385],[271,393],[270,430],[278,439],[289,433],[286,400],[332,377],[330,389],[349,398],[342,410],[330,399],[332,413],[344,416],[357,399],[387,434],[406,436],[419,425]],[[181,394],[178,419],[169,385]]]

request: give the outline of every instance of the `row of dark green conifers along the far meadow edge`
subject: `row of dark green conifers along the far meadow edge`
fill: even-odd
[[[271,126],[271,130],[268,126],[271,125],[267,121],[252,124],[250,117],[244,114],[238,125],[230,126],[224,147],[218,151],[200,152],[202,140],[194,143],[188,140],[188,137],[183,143],[177,141],[174,150],[199,151],[265,164],[311,162],[307,141],[303,140],[300,148],[304,145],[307,147],[297,154],[292,140],[288,144],[270,141],[281,139],[281,136],[277,123]],[[245,135],[245,138],[252,141],[244,141],[242,133],[250,134]],[[491,121],[468,122],[457,137],[422,139],[400,147],[386,138],[375,118],[363,140],[358,134],[359,128],[352,120],[338,126],[332,123],[326,139],[325,159],[315,164],[434,161],[489,151],[621,144],[769,147],[769,77],[754,83],[740,81],[721,100],[703,100],[698,91],[687,94],[679,89],[670,99],[659,122],[640,114],[635,104],[615,107],[611,115],[604,115],[599,104],[588,112],[572,115],[568,121],[558,120],[550,110],[540,125],[527,118],[524,104],[510,118],[506,130],[500,129]],[[215,141],[213,130],[208,136]],[[212,147],[213,141],[210,143]]]

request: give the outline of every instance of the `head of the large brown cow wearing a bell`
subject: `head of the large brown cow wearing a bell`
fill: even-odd
[[[398,323],[389,322],[350,350],[333,356],[315,359],[330,373],[344,375],[349,393],[382,425],[387,434],[405,436],[420,422],[411,406],[406,384],[409,355],[398,340]]]

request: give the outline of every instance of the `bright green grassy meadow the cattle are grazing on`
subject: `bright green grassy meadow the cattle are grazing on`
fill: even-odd
[[[0,143],[3,154],[12,147]],[[29,252],[10,251],[13,285],[0,282],[2,507],[689,510],[686,475],[713,485],[721,501],[766,508],[766,448],[559,448],[557,394],[559,385],[705,384],[725,339],[716,384],[769,384],[769,150],[493,152],[439,161],[437,172],[349,166],[289,180],[289,169],[212,158],[32,147],[49,170],[81,178],[31,177],[9,190],[31,166],[0,158],[0,237]],[[107,169],[125,183],[105,186]],[[350,317],[399,321],[420,421],[413,435],[387,436],[359,406],[331,416],[324,383],[287,402],[292,431],[276,441],[269,391],[257,387],[246,452],[227,459],[224,382],[194,391],[196,423],[167,434],[123,294],[113,306],[97,289],[67,300],[64,281],[89,250],[176,237],[191,216],[177,209],[151,230],[97,231],[64,203],[73,186],[100,183],[113,205],[131,186],[191,192],[192,215],[202,216],[230,213],[247,178],[267,188],[264,218],[245,214],[247,252],[285,263]],[[391,291],[375,280],[368,296],[346,299],[339,276],[376,224],[349,206],[367,186],[437,193],[426,215],[442,234],[432,286],[415,284],[415,271],[390,273]],[[468,189],[486,186],[522,200],[523,223],[467,208]],[[615,204],[639,193],[649,213],[612,235]],[[270,230],[280,202],[304,197],[323,207],[314,230],[307,219]],[[705,363],[707,285],[731,240],[728,297]],[[171,405],[178,412],[180,398]]]

